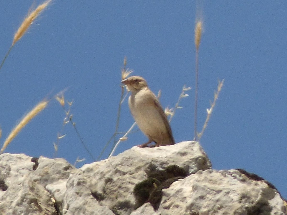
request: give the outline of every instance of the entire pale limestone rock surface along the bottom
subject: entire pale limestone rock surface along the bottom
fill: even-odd
[[[286,214],[275,187],[211,169],[198,142],[133,147],[76,169],[64,159],[0,155],[0,214]]]

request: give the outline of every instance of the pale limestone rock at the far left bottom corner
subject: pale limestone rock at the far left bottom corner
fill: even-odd
[[[67,179],[73,169],[64,159],[0,155],[0,214],[57,214],[46,186]]]

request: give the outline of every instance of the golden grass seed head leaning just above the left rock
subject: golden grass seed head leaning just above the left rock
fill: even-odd
[[[3,153],[8,144],[17,136],[17,134],[32,120],[38,113],[40,113],[48,104],[48,101],[44,100],[38,103],[24,118],[20,123],[10,132],[9,136],[5,140],[3,147],[1,148],[0,154]]]

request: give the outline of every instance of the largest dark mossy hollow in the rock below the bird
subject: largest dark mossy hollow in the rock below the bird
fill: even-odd
[[[154,210],[158,210],[162,200],[162,189],[170,187],[170,185],[179,179],[187,176],[187,171],[177,165],[170,165],[165,170],[156,171],[151,168],[147,173],[148,178],[136,184],[133,193],[135,195],[135,208],[142,206],[146,202],[150,202]]]

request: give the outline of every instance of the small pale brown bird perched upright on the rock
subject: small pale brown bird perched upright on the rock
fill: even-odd
[[[129,109],[139,129],[148,137],[148,142],[139,145],[147,147],[175,144],[170,124],[156,95],[148,88],[146,80],[140,76],[131,76],[121,81],[126,85],[129,96]]]

